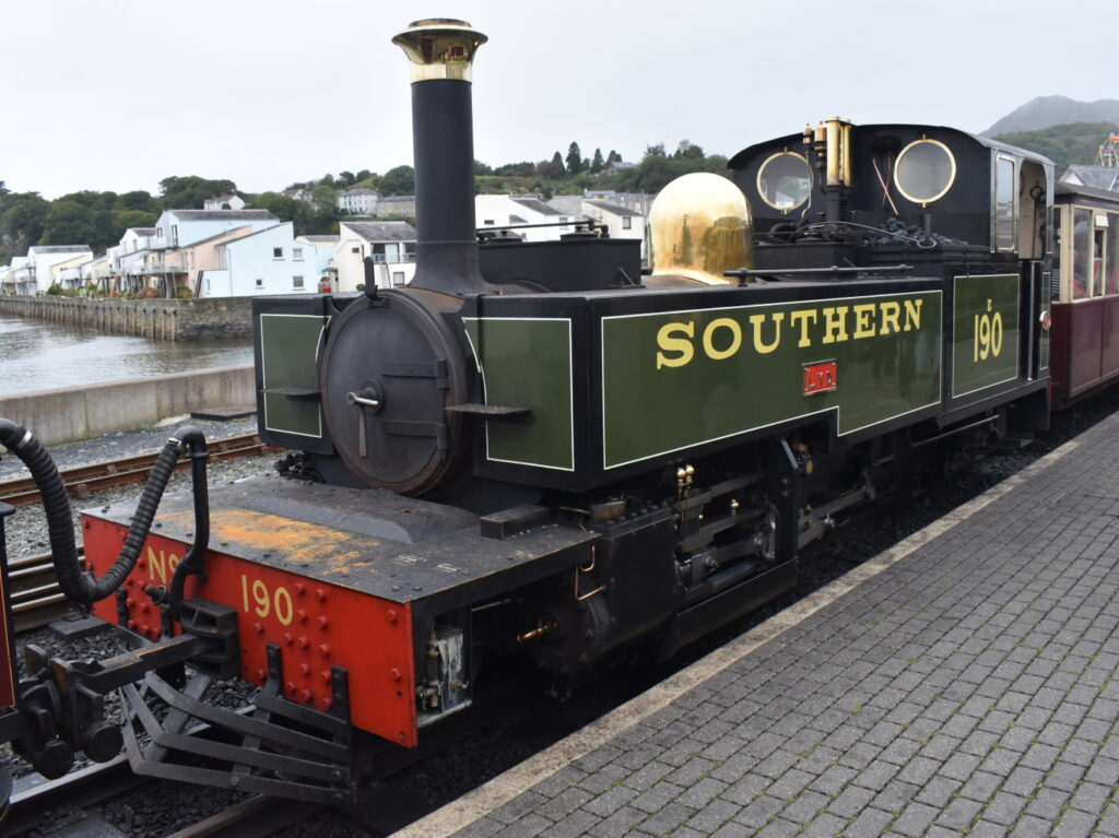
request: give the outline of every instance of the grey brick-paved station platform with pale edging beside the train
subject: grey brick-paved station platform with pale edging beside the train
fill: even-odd
[[[1119,836],[1119,414],[397,832]]]

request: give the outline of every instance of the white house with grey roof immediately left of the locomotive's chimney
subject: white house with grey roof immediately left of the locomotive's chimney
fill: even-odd
[[[407,222],[342,222],[333,246],[331,286],[365,286],[365,257],[374,261],[377,288],[404,285],[416,270],[416,232]]]

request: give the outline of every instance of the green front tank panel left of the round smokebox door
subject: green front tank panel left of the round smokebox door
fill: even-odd
[[[261,314],[261,358],[264,389],[318,389],[316,356],[328,318],[307,314]],[[270,431],[322,437],[318,401],[295,401],[264,394],[264,427]]]

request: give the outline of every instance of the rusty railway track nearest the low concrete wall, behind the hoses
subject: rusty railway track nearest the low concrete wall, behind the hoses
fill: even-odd
[[[273,445],[261,442],[255,433],[229,436],[224,440],[207,442],[211,461],[233,460],[238,456],[254,456],[279,451]],[[101,489],[112,489],[126,483],[142,483],[151,473],[159,452],[125,456],[120,460],[78,465],[62,472],[66,493],[72,498],[84,497]],[[180,460],[175,465],[176,471],[190,468],[189,460]],[[35,481],[27,478],[0,482],[0,501],[15,507],[28,506],[39,501],[39,490]]]

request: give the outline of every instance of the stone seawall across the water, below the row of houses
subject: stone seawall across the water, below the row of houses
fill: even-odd
[[[215,340],[253,335],[250,296],[197,300],[0,296],[0,313],[153,340]]]

